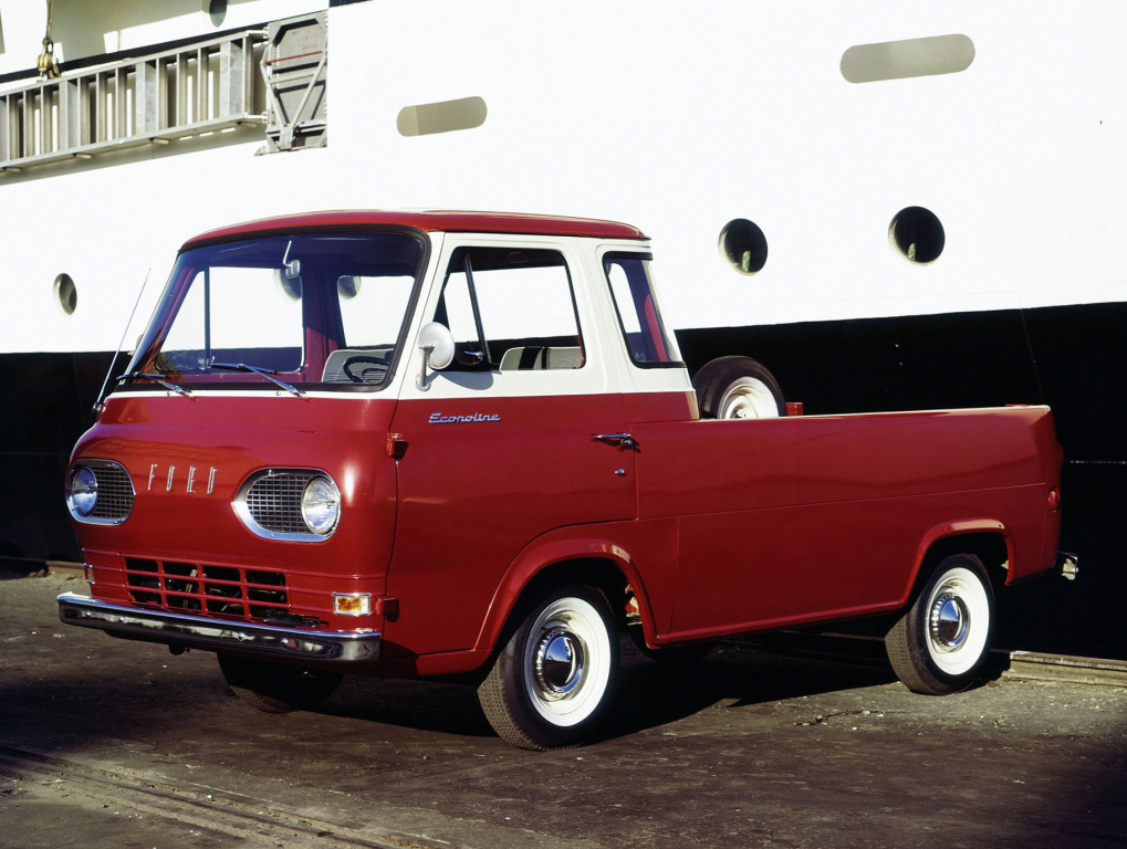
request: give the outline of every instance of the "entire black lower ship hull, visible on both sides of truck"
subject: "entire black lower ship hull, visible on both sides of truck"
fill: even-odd
[[[1047,403],[1065,449],[1061,547],[1081,578],[1005,593],[1010,647],[1127,658],[1127,304],[1097,304],[678,331],[695,370],[713,357],[763,361],[807,414]],[[109,354],[0,355],[0,560],[79,561],[63,506],[66,459],[92,423]],[[124,368],[124,364],[118,364]],[[116,372],[115,372],[116,374]]]

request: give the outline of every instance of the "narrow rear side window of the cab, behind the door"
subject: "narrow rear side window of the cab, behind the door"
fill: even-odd
[[[680,352],[665,332],[654,297],[649,257],[639,253],[607,253],[603,271],[619,316],[619,327],[630,358],[639,366],[680,366]]]

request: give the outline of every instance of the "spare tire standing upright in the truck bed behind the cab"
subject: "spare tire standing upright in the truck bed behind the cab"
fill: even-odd
[[[719,357],[693,375],[704,419],[774,419],[787,414],[779,382],[751,357]]]

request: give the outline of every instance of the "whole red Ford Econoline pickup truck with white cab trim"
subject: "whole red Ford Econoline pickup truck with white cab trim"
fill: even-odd
[[[468,680],[530,749],[589,738],[628,631],[662,659],[894,613],[908,687],[973,682],[995,591],[1057,560],[1049,410],[804,417],[744,357],[694,388],[650,262],[532,215],[192,239],[74,448],[62,620],[214,651],[265,711]]]

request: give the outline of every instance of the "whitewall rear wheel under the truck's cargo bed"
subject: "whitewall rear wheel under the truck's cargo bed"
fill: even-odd
[[[885,637],[896,677],[914,692],[941,696],[975,681],[990,654],[994,596],[982,561],[957,554],[937,566]]]

